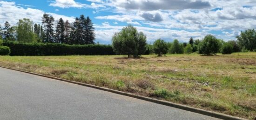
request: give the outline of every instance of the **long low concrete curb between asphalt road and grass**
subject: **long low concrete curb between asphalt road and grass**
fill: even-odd
[[[144,96],[141,96],[141,95],[134,95],[134,94],[131,94],[131,93],[126,93],[126,92],[122,92],[122,91],[118,91],[118,90],[114,90],[114,89],[103,88],[103,87],[99,87],[99,86],[95,86],[95,85],[70,81],[70,80],[66,80],[66,79],[62,79],[62,78],[58,78],[58,77],[53,77],[53,76],[41,75],[41,74],[37,74],[37,73],[33,73],[33,72],[27,72],[27,71],[24,71],[24,70],[13,69],[13,68],[8,68],[8,67],[4,67],[4,66],[0,66],[0,67],[1,68],[6,68],[6,69],[12,69],[12,70],[16,70],[16,71],[20,71],[20,72],[24,72],[24,73],[28,73],[28,74],[33,74],[33,75],[36,75],[36,76],[43,76],[43,77],[47,77],[47,78],[51,78],[51,79],[55,79],[55,80],[59,80],[59,81],[78,84],[78,85],[82,85],[82,86],[86,86],[86,87],[90,87],[90,88],[96,88],[96,89],[112,92],[112,93],[119,94],[119,95],[125,95],[125,96],[129,96],[129,97],[141,99],[141,100],[144,100],[144,101],[155,102],[155,103],[162,104],[162,105],[165,105],[165,106],[175,107],[175,108],[187,110],[187,111],[198,113],[198,114],[204,114],[204,115],[208,115],[208,116],[223,119],[223,120],[246,120],[246,119],[243,119],[243,118],[239,118],[239,117],[235,117],[235,116],[231,116],[231,115],[227,115],[227,114],[221,114],[221,113],[217,113],[217,112],[203,110],[203,109],[200,109],[200,108],[189,107],[189,106],[186,106],[186,105],[181,105],[181,104],[177,104],[177,103],[173,103],[173,102],[169,102],[169,101],[157,100],[157,99],[154,99],[154,98],[144,97]]]

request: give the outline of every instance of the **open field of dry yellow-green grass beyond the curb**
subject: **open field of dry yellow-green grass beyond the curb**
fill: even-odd
[[[200,56],[0,56],[0,65],[230,114],[256,117],[256,52]]]

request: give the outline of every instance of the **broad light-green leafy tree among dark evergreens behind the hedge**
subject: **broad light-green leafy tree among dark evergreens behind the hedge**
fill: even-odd
[[[33,21],[30,19],[20,19],[17,23],[17,40],[23,43],[31,43],[35,41],[33,31]]]

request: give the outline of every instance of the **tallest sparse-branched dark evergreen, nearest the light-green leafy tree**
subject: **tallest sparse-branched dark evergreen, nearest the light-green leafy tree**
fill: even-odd
[[[54,17],[49,14],[44,14],[42,18],[42,24],[44,25],[45,38],[43,42],[45,43],[54,43]]]

